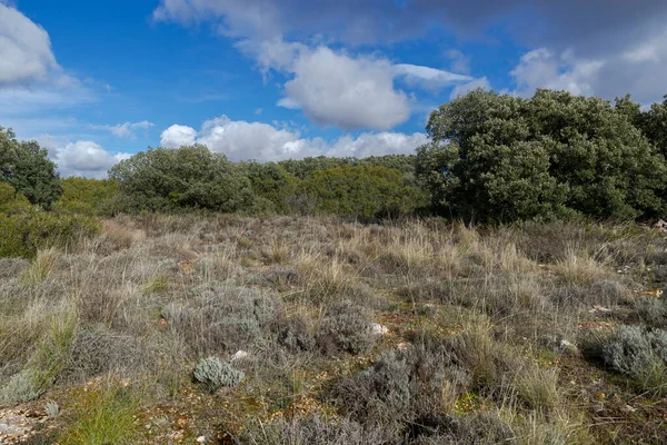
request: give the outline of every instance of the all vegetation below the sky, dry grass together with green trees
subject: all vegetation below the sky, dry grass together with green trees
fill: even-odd
[[[666,443],[666,108],[474,91],[417,156],[156,148],[108,180],[4,131],[0,416],[31,443]]]

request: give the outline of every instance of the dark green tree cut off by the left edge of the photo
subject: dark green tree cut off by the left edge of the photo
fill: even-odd
[[[18,141],[0,127],[0,181],[11,185],[31,204],[48,209],[62,194],[60,176],[48,151],[36,141]]]

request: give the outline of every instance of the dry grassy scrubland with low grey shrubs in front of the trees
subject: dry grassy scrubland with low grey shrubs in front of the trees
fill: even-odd
[[[119,216],[0,259],[4,439],[665,443],[666,281],[637,225]]]

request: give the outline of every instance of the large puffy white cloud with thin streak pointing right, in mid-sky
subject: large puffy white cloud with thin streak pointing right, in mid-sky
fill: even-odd
[[[243,40],[237,47],[258,61],[265,76],[269,70],[292,76],[285,83],[279,106],[300,109],[313,122],[344,130],[387,130],[410,117],[408,95],[395,80],[428,90],[439,90],[472,80],[429,67],[399,63],[364,55],[334,51],[326,46]]]

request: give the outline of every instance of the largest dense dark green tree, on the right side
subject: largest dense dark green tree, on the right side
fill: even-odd
[[[417,177],[441,212],[464,218],[654,216],[667,167],[633,113],[564,91],[471,91],[431,113]]]

